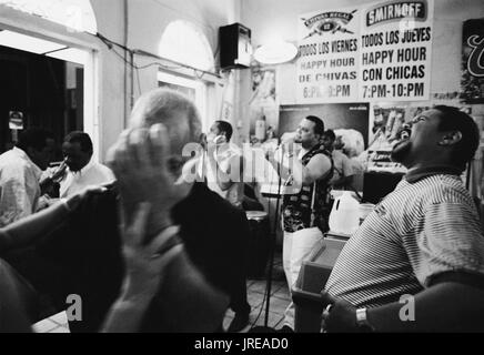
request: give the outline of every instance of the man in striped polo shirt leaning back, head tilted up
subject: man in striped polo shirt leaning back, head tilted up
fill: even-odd
[[[327,332],[484,331],[484,236],[461,174],[474,120],[437,105],[401,133],[409,169],[346,242],[323,294]]]

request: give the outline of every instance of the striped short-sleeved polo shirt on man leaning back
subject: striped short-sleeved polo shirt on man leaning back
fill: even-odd
[[[326,291],[356,307],[399,302],[432,277],[458,271],[484,274],[484,237],[461,179],[433,174],[402,180],[350,239]]]

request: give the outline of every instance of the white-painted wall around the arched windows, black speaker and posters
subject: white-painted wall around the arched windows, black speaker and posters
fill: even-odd
[[[239,1],[239,2],[238,2]],[[218,29],[229,23],[229,17],[236,19],[230,7],[240,12],[240,22],[252,30],[254,47],[279,36],[296,41],[298,16],[324,8],[343,8],[373,1],[359,0],[128,0],[128,47],[158,53],[158,45],[164,28],[174,20],[194,23],[208,38],[214,53],[218,52]],[[107,38],[124,43],[124,1],[91,0],[98,30]],[[240,7],[240,10],[239,10]],[[432,60],[432,92],[452,92],[460,88],[460,65],[462,47],[462,22],[466,19],[484,17],[482,0],[435,0],[434,42]],[[40,21],[38,21],[40,23]],[[39,24],[40,27],[40,24]],[[54,27],[52,27],[54,28]],[[99,133],[100,158],[111,146],[125,126],[130,109],[130,70],[125,63],[97,39],[99,45]],[[122,53],[121,49],[117,49]],[[138,64],[152,62],[152,59],[135,58]],[[282,104],[295,101],[295,65],[278,68],[278,91]],[[141,92],[157,88],[157,68],[140,70]],[[249,132],[248,102],[250,97],[250,70],[240,72],[238,115],[243,121],[243,132]],[[127,91],[128,90],[128,91]],[[125,94],[128,92],[128,101]],[[134,95],[140,94],[138,80],[134,81]]]

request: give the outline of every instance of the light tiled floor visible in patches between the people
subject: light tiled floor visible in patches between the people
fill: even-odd
[[[266,290],[266,280],[248,280],[248,301],[252,307],[250,315],[250,324],[242,331],[246,333],[253,326],[265,325],[265,306],[264,294]],[[268,326],[281,327],[284,310],[290,303],[288,284],[284,278],[282,268],[281,254],[274,256],[274,266],[271,284],[271,298],[269,303]],[[233,320],[234,313],[226,311],[223,326],[226,329],[230,322]],[[37,333],[70,333],[65,312],[59,313],[50,318],[43,320],[34,324]]]

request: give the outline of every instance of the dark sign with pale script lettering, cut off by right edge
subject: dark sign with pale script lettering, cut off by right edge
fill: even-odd
[[[464,22],[461,99],[484,103],[484,20]]]

